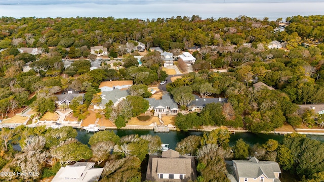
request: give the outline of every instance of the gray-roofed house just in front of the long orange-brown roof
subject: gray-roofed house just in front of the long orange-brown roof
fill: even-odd
[[[127,96],[129,96],[128,90],[120,90],[118,88],[113,89],[112,91],[109,92],[101,92],[101,103],[99,105],[95,105],[95,109],[105,109],[106,108],[106,103],[109,103],[111,100],[113,103],[113,106],[117,106],[120,101],[125,99]]]

